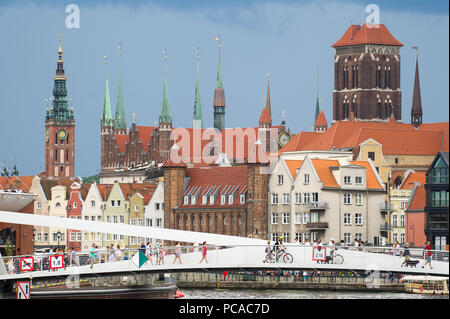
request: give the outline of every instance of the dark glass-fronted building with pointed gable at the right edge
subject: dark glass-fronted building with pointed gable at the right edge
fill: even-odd
[[[448,250],[448,158],[448,152],[439,152],[426,173],[425,234],[437,250]]]

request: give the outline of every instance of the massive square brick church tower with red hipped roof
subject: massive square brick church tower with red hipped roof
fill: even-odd
[[[351,25],[335,49],[333,120],[401,120],[400,48],[383,24]]]

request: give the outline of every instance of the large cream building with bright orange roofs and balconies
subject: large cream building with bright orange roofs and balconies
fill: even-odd
[[[379,245],[385,189],[373,163],[343,156],[282,157],[269,182],[269,239]]]

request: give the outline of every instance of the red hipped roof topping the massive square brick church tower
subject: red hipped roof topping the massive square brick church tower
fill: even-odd
[[[342,38],[333,44],[332,47],[336,48],[362,44],[403,46],[400,41],[394,38],[384,24],[365,23],[362,26],[351,25]]]

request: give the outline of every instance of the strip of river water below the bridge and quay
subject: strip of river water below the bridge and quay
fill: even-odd
[[[183,289],[184,299],[448,299],[448,296],[390,292],[337,292],[314,290]]]

